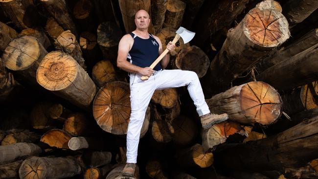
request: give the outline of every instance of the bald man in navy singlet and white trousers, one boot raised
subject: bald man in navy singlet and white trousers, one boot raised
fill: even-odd
[[[203,128],[209,128],[228,118],[227,114],[210,113],[195,72],[180,69],[162,70],[169,63],[169,53],[154,69],[149,67],[163,52],[162,45],[158,37],[148,33],[150,19],[145,10],[136,13],[135,23],[136,30],[124,35],[120,40],[117,56],[117,67],[130,72],[131,115],[127,130],[127,164],[122,172],[122,175],[127,177],[133,177],[135,173],[140,130],[155,90],[187,85]],[[175,45],[169,42],[166,48],[171,52],[175,49]],[[149,79],[142,81],[140,77],[143,75],[148,76]]]

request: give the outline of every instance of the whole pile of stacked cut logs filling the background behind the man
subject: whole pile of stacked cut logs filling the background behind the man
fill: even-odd
[[[196,32],[176,43],[168,68],[196,72],[210,111],[229,119],[203,129],[186,87],[156,90],[135,179],[318,177],[317,0],[1,0],[0,9],[1,179],[121,179],[131,104],[116,57],[139,9],[163,50],[180,26]]]

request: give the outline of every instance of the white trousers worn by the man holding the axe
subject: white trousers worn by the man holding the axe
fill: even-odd
[[[141,75],[130,75],[130,101],[132,112],[127,130],[127,163],[137,162],[140,130],[150,99],[155,90],[188,86],[190,97],[199,116],[209,113],[198,75],[193,71],[180,69],[155,71],[148,80]]]

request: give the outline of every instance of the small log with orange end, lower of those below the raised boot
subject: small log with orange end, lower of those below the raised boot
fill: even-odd
[[[184,149],[177,154],[177,162],[183,167],[206,168],[213,163],[213,154],[204,151],[202,145],[195,144],[188,149]]]

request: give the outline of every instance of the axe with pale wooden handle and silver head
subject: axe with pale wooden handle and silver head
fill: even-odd
[[[176,44],[177,41],[180,39],[180,37],[183,40],[183,43],[186,44],[188,42],[190,42],[193,37],[194,37],[195,33],[191,32],[183,27],[179,27],[179,29],[176,31],[176,36],[172,41],[172,44]],[[154,63],[151,64],[150,68],[154,69],[154,67],[156,67],[156,65],[162,60],[162,58],[169,52],[168,49],[165,49],[161,55],[154,61]],[[141,76],[141,80],[148,80],[148,76]]]

